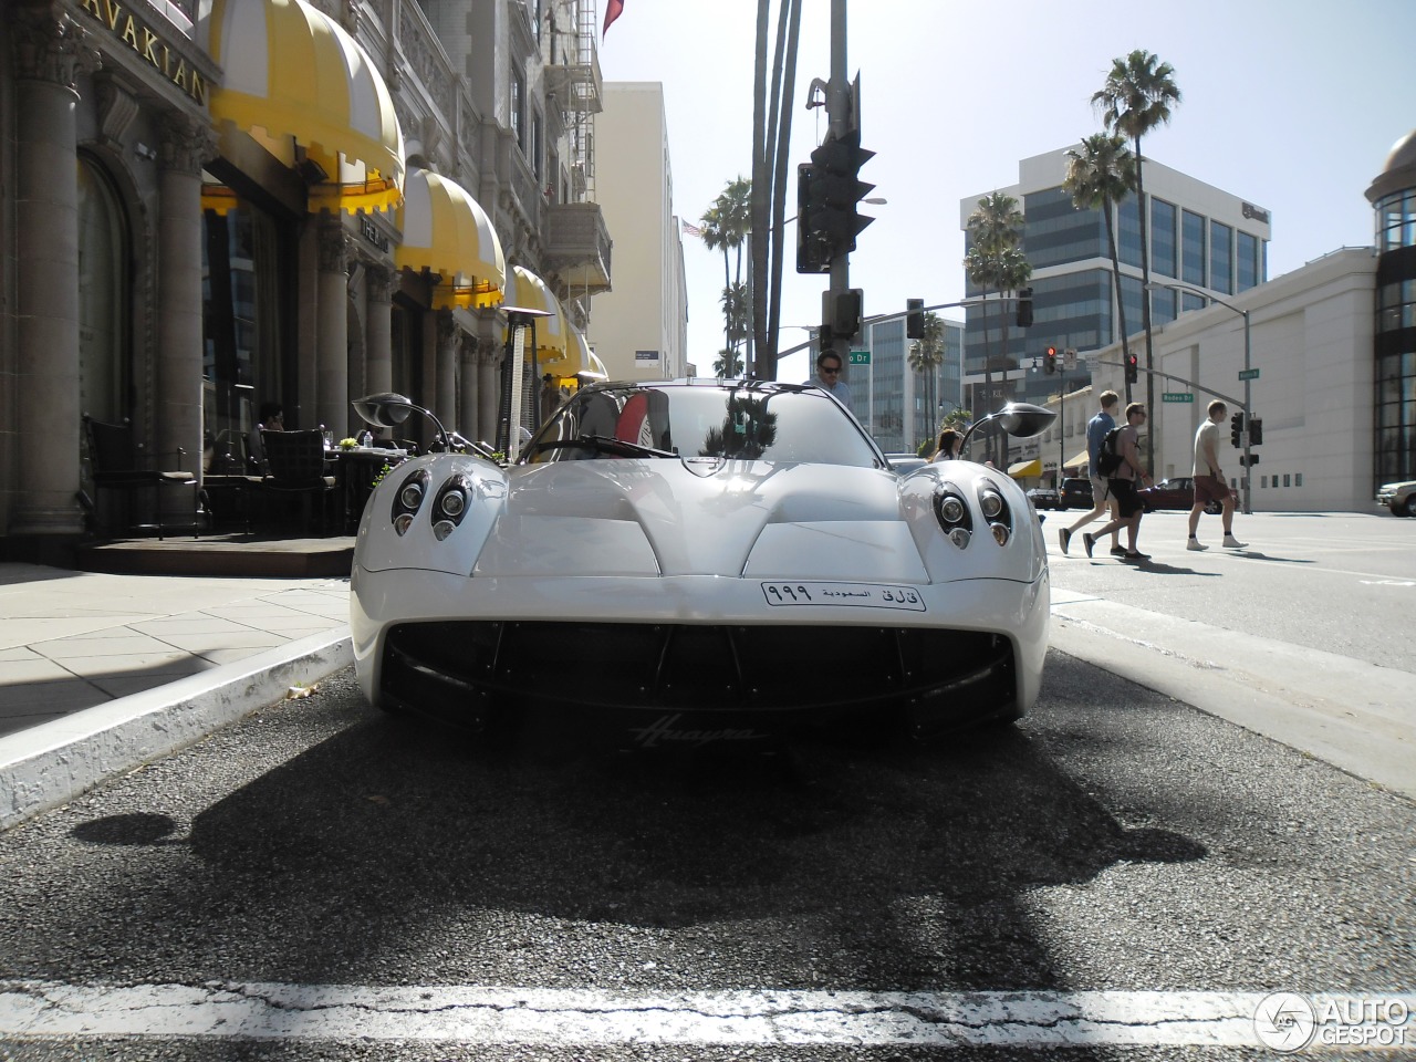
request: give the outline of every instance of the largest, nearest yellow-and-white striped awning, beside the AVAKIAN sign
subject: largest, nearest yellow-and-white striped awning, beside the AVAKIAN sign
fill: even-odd
[[[394,99],[344,27],[304,0],[211,0],[197,38],[225,71],[211,88],[212,122],[299,167],[312,211],[398,202],[404,135]]]

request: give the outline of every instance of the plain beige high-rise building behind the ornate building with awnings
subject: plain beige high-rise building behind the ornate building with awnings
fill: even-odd
[[[596,354],[615,379],[691,375],[684,245],[674,215],[664,88],[606,82],[599,202],[619,244],[615,290],[595,300]]]

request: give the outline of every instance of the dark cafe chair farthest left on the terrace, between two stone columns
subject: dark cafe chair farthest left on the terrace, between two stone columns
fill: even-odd
[[[143,467],[139,459],[142,447],[133,438],[133,426],[125,423],[106,423],[84,413],[84,436],[88,442],[89,470],[93,476],[93,504],[91,517],[99,534],[137,534],[157,532],[163,538],[169,528],[177,531],[191,531],[193,538],[201,523],[201,484],[195,473],[181,467],[184,452],[177,450],[177,469],[149,469]],[[163,520],[163,491],[178,490],[187,501],[183,511],[191,513],[190,523],[167,524]],[[152,521],[144,520],[147,514],[135,504],[136,494],[152,496]],[[103,497],[118,496],[118,520],[112,524],[105,521]],[[176,508],[176,507],[173,507]],[[171,511],[171,510],[170,510]]]

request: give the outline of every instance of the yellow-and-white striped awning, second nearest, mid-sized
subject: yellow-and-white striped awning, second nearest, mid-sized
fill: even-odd
[[[408,169],[404,202],[395,212],[404,242],[394,251],[401,269],[438,273],[438,309],[480,309],[501,302],[507,259],[491,219],[456,181],[419,166]]]

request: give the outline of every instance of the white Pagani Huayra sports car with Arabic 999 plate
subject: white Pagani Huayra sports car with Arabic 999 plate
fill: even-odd
[[[379,399],[384,422],[418,408]],[[1051,413],[986,419],[1035,435]],[[388,711],[663,748],[1017,719],[1048,598],[1037,515],[995,469],[896,474],[814,387],[609,382],[510,467],[435,453],[385,476],[350,626]]]

